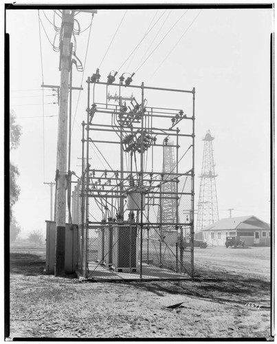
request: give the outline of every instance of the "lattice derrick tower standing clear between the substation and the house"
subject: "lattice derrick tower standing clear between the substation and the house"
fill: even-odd
[[[214,172],[214,138],[207,131],[204,141],[203,161],[200,177],[200,191],[197,212],[197,231],[219,221],[219,208],[217,205],[217,174]]]

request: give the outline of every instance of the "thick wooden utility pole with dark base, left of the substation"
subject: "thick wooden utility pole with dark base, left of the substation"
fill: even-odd
[[[65,218],[67,191],[67,107],[70,70],[70,41],[74,27],[74,14],[63,10],[60,29],[60,107],[58,114],[58,162],[56,193],[56,256],[54,275],[65,273]]]

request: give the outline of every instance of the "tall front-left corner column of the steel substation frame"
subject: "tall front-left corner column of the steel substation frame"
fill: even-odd
[[[87,78],[87,164],[86,164],[86,226],[85,226],[85,277],[88,275],[88,231],[89,231],[89,104],[90,104],[90,78]]]

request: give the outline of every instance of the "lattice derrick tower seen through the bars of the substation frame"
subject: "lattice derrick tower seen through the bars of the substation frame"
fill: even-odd
[[[174,153],[174,142],[168,141],[163,147],[163,164],[162,173],[164,173],[164,181],[172,178],[171,173],[176,172],[176,162]],[[173,223],[176,221],[177,200],[172,197],[173,193],[177,192],[176,181],[164,182],[161,186],[161,192],[164,198],[160,200],[158,208],[157,222]],[[168,198],[166,198],[168,197]],[[161,214],[162,209],[162,214]],[[162,216],[161,216],[162,215]],[[179,222],[179,221],[178,221]],[[168,228],[169,229],[169,228]],[[175,229],[170,226],[170,229]]]

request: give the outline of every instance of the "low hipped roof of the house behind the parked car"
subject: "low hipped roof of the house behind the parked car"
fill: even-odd
[[[203,230],[270,229],[269,224],[254,215],[221,219]]]

